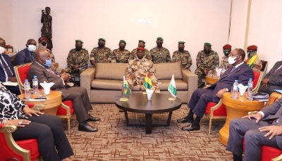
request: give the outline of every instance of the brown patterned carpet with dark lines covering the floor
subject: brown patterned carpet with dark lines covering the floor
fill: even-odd
[[[181,131],[187,124],[176,122],[188,113],[186,105],[173,112],[170,127],[153,127],[145,134],[145,127],[126,127],[123,112],[114,104],[92,104],[90,112],[100,117],[96,133],[78,131],[78,122],[71,121],[68,140],[75,155],[73,160],[232,160],[218,139],[225,120],[214,120],[212,134],[208,134],[209,120],[204,117],[200,131]],[[153,115],[153,122],[166,122],[168,113]],[[145,122],[145,115],[129,112],[130,122]],[[67,129],[66,120],[63,126]],[[67,130],[66,130],[67,131]]]

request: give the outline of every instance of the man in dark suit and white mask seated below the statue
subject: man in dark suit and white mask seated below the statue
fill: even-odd
[[[15,56],[15,65],[31,63],[35,60],[36,41],[34,39],[27,40],[26,48],[19,51]]]

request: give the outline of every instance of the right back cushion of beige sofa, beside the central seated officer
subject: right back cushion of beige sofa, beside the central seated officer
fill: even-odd
[[[176,63],[158,63],[156,67],[156,77],[158,80],[171,79],[174,74],[175,79],[182,79],[182,69],[180,62]]]

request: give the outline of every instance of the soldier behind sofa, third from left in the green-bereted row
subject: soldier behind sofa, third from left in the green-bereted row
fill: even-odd
[[[113,56],[111,57],[111,63],[128,63],[131,55],[130,51],[125,49],[126,42],[124,40],[119,41],[119,48],[114,49]]]

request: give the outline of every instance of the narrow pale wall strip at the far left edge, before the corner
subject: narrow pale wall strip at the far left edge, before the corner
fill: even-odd
[[[11,0],[0,2],[0,37],[7,45],[13,45],[13,11]]]

